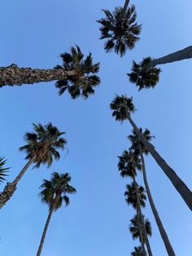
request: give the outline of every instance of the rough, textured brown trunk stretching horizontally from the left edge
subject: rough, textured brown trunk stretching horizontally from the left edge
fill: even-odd
[[[11,64],[0,68],[0,87],[65,80],[75,74],[75,71],[65,71],[63,68],[18,68],[16,64]]]

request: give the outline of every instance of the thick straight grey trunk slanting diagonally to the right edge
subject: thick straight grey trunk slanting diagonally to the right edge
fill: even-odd
[[[185,183],[177,176],[176,172],[172,170],[170,166],[164,161],[164,158],[160,157],[159,153],[156,152],[155,147],[149,143],[142,133],[138,130],[136,124],[133,122],[132,118],[128,116],[130,124],[133,126],[133,129],[145,147],[151,152],[151,156],[154,157],[155,161],[159,167],[164,170],[164,174],[168,176],[168,179],[172,182],[173,186],[177,189],[177,192],[180,193],[181,197],[185,201],[186,205],[189,206],[192,210],[192,192],[185,185]]]

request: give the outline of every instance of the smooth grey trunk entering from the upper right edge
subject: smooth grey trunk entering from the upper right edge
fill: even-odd
[[[155,67],[159,64],[167,64],[174,61],[185,60],[190,58],[192,58],[192,46],[188,46],[181,51],[176,51],[169,55],[165,55],[162,58],[152,60],[151,64],[149,64],[149,68]]]

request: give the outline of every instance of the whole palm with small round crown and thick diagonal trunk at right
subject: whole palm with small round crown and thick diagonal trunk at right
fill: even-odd
[[[133,122],[130,114],[134,113],[136,108],[133,105],[133,99],[127,98],[126,95],[116,95],[116,98],[111,102],[112,116],[116,117],[116,121],[129,120],[133,130],[145,145],[146,149],[151,153],[151,156],[154,157],[155,161],[159,167],[164,170],[164,174],[168,176],[168,179],[172,182],[173,186],[177,189],[177,192],[180,193],[181,197],[185,201],[186,205],[192,210],[192,192],[190,189],[183,183],[183,181],[177,176],[176,172],[168,166],[167,162],[164,161],[159,153],[155,150],[155,147],[149,143],[146,138],[142,135],[140,130],[137,128],[136,124]]]

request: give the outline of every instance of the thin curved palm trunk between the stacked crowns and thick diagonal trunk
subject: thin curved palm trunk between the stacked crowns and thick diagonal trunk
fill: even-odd
[[[164,241],[164,245],[167,249],[168,255],[169,256],[176,256],[176,254],[174,253],[174,250],[172,249],[172,245],[171,245],[170,241],[168,240],[168,235],[167,235],[166,231],[164,230],[164,225],[161,222],[161,219],[159,218],[158,211],[155,208],[155,203],[154,203],[153,198],[151,196],[151,191],[150,191],[148,181],[147,181],[147,178],[146,178],[146,165],[145,165],[144,157],[142,155],[141,145],[139,146],[139,152],[140,152],[140,156],[142,158],[142,174],[143,174],[143,179],[144,179],[144,183],[145,183],[145,187],[146,187],[146,193],[147,193],[147,196],[149,198],[150,205],[151,205],[151,210],[153,211],[155,221],[156,221],[157,226],[159,228],[160,235],[161,235],[161,237]]]

